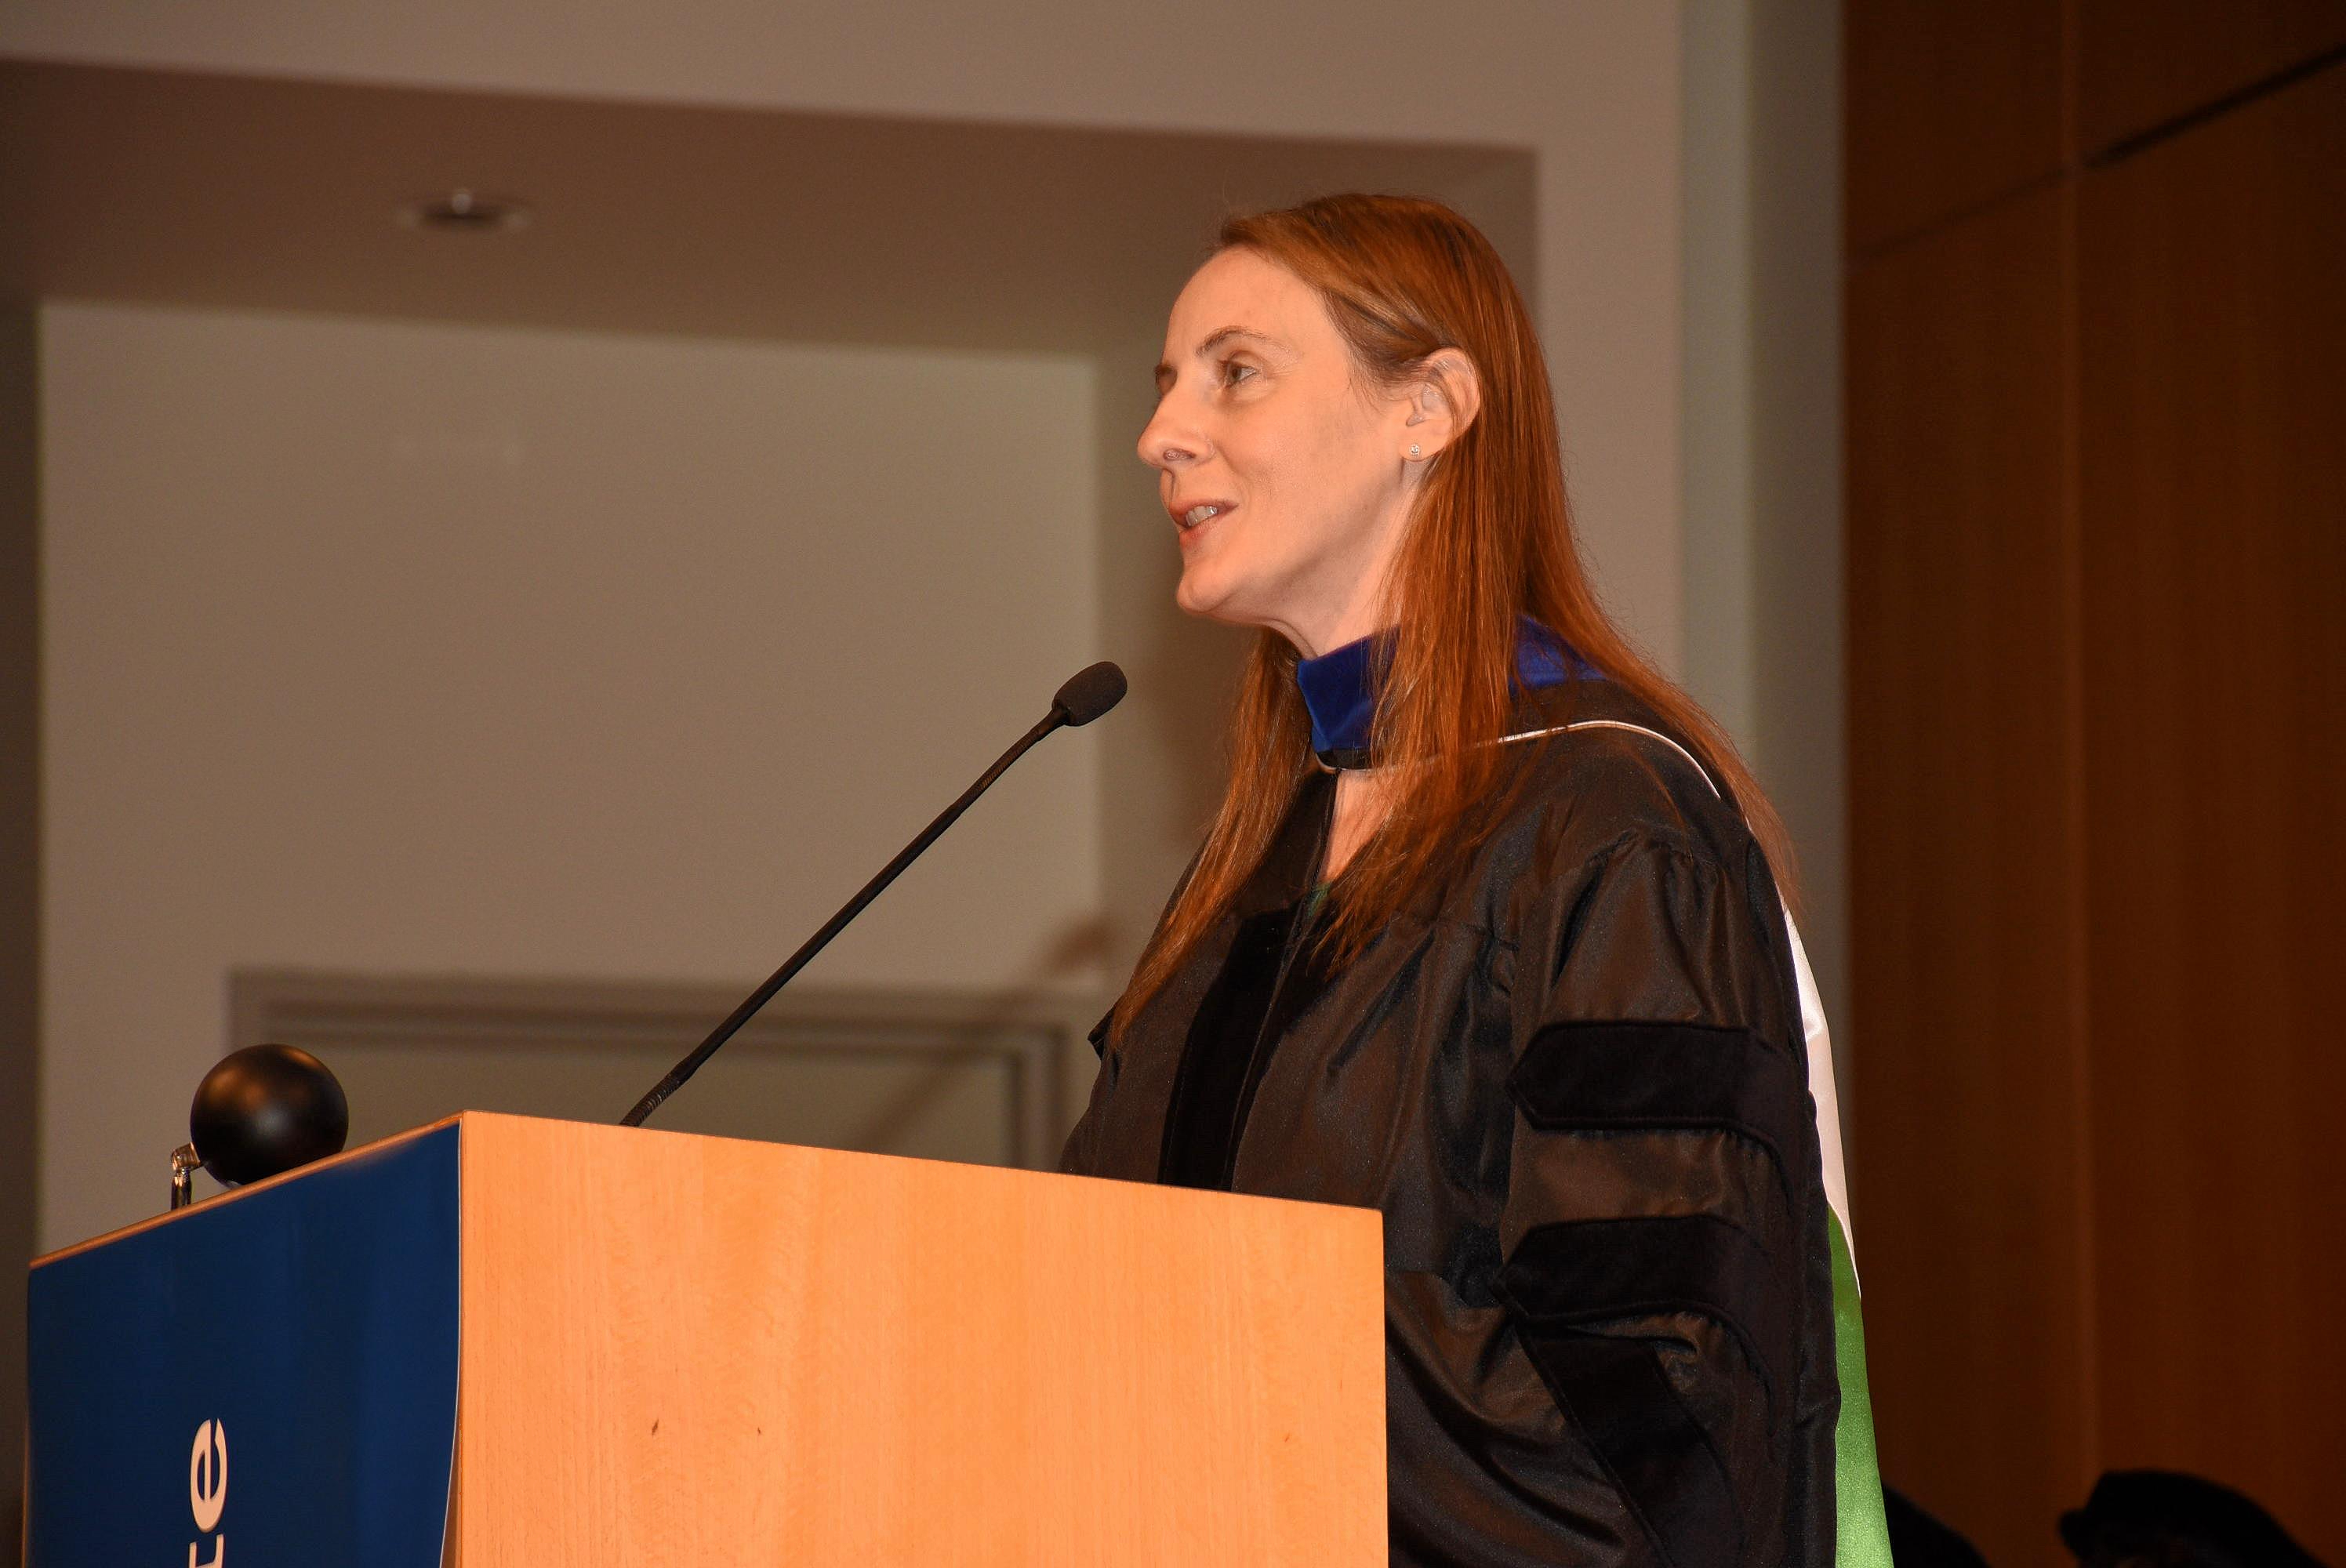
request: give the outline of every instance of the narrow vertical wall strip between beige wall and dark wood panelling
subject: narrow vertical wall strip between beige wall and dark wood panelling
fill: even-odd
[[[1839,5],[1703,0],[1682,42],[1684,678],[1792,829],[1846,1082]]]

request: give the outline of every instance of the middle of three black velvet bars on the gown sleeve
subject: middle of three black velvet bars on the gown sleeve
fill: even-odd
[[[1623,1317],[1694,1312],[1743,1345],[1776,1411],[1790,1411],[1792,1307],[1778,1270],[1741,1228],[1713,1214],[1560,1221],[1516,1244],[1499,1296],[1518,1329],[1588,1329]]]

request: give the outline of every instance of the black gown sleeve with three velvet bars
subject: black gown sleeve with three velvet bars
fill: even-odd
[[[1396,1563],[1809,1561],[1823,1199],[1760,908],[1630,833],[1527,911],[1487,1270],[1389,1286]]]

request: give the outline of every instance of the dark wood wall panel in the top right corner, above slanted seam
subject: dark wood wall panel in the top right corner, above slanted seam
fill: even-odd
[[[2086,153],[2346,45],[2346,0],[2076,0]]]

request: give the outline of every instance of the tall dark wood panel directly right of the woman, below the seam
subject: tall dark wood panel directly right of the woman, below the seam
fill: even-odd
[[[1851,1150],[1884,1479],[1992,1561],[2090,1481],[2067,188],[1849,289]]]

